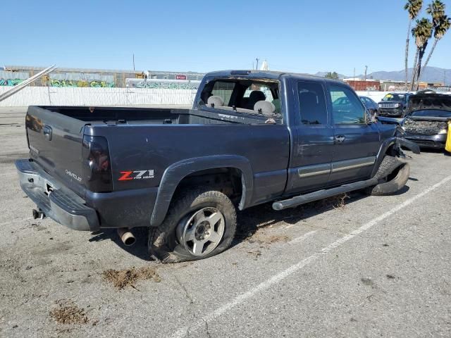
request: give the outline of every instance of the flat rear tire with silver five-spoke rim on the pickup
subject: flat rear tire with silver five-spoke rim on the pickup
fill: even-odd
[[[150,256],[161,263],[208,258],[228,249],[235,237],[232,201],[213,188],[176,196],[165,220],[149,229]]]

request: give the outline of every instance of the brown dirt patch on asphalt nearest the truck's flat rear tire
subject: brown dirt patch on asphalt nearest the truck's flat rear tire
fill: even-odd
[[[123,270],[105,270],[103,277],[106,281],[111,282],[114,287],[124,289],[125,287],[135,287],[138,280],[153,280],[161,282],[161,277],[154,268],[144,266],[142,268],[130,268]]]

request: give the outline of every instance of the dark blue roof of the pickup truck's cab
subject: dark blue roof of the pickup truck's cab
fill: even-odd
[[[274,70],[218,70],[210,73],[206,73],[205,76],[209,77],[241,77],[245,76],[249,79],[271,79],[271,80],[280,80],[280,77],[293,77],[299,80],[310,80],[310,81],[326,81],[330,83],[336,84],[346,84],[345,82],[328,79],[326,77],[302,74],[302,73],[289,73],[289,72],[278,72]]]

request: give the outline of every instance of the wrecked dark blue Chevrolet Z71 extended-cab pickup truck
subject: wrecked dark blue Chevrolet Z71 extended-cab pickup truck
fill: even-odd
[[[418,147],[391,122],[371,121],[342,82],[221,71],[192,109],[30,106],[30,158],[16,167],[35,218],[118,228],[125,244],[149,227],[154,259],[186,261],[230,246],[236,208],[397,192],[409,177],[401,146]]]

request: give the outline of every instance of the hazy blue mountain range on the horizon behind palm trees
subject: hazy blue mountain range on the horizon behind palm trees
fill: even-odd
[[[318,72],[316,76],[326,76],[328,72]],[[340,79],[352,77],[348,75],[338,74]],[[356,75],[356,77],[363,78],[364,75]],[[412,77],[412,68],[409,68],[409,77]],[[370,73],[366,75],[366,78],[374,80],[394,80],[394,81],[403,81],[405,78],[404,70],[394,70],[394,71],[378,71],[374,73]],[[451,84],[451,69],[438,68],[438,67],[426,67],[423,75],[421,75],[421,81],[425,82],[443,82],[445,80],[445,84]]]

